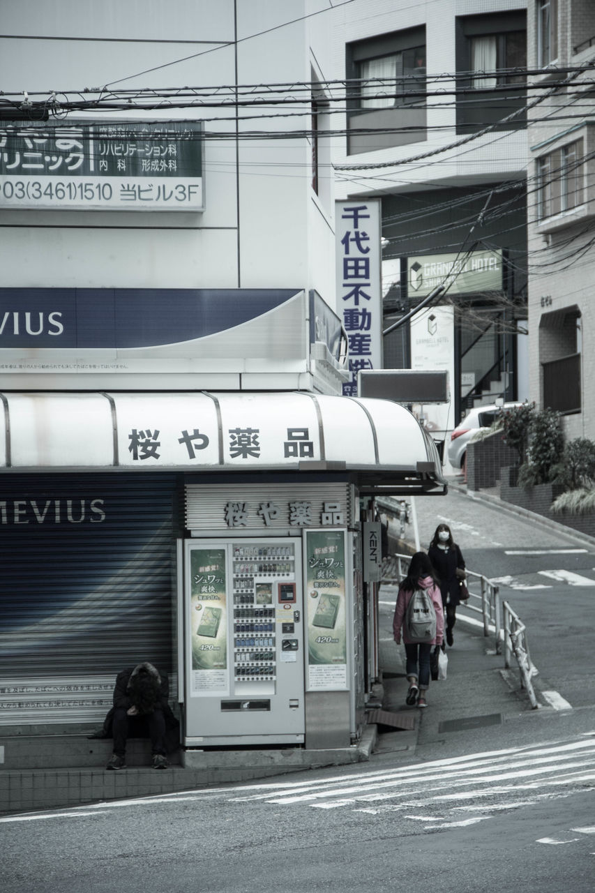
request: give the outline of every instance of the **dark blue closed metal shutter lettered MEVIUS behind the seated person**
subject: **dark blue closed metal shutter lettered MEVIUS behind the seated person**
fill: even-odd
[[[0,706],[62,716],[79,697],[90,718],[80,680],[143,660],[172,672],[177,529],[173,474],[4,474]]]

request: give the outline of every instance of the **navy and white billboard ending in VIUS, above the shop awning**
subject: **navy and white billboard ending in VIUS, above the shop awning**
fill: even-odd
[[[152,375],[161,384],[143,387],[176,376],[173,387],[194,388],[210,375],[212,388],[217,374],[236,388],[241,374],[306,372],[306,316],[296,288],[0,288],[0,387],[42,387],[31,380],[43,375],[44,388],[122,388]]]

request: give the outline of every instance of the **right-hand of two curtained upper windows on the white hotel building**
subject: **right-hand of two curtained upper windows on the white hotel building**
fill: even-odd
[[[502,83],[524,83],[523,72],[490,76],[486,72],[503,71],[527,66],[527,41],[525,31],[508,31],[505,34],[482,34],[470,38],[472,87],[490,90]]]

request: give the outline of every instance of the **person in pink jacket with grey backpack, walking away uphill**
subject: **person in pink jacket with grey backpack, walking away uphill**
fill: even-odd
[[[412,619],[411,611],[407,611],[412,599],[414,604],[423,604],[425,597],[429,620],[432,626],[423,629],[423,621]],[[414,598],[415,597],[415,598]],[[414,605],[411,605],[412,607]],[[433,608],[433,611],[432,611]],[[418,612],[419,613],[419,612]],[[432,562],[425,552],[415,552],[409,563],[409,571],[398,588],[397,605],[392,622],[392,631],[397,645],[405,643],[406,674],[409,690],[406,704],[426,707],[426,692],[430,685],[430,657],[432,648],[442,644],[444,632],[444,613],[438,580],[432,568]]]

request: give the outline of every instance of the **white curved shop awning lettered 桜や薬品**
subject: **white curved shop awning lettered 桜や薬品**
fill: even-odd
[[[338,473],[444,493],[432,438],[390,400],[307,392],[4,392],[4,472]]]

